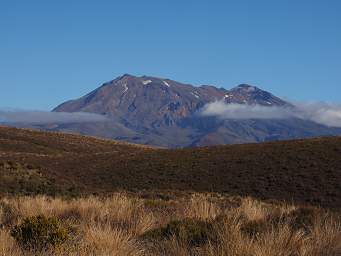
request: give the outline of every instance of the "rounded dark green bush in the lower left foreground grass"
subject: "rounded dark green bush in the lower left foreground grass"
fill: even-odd
[[[25,250],[58,249],[71,237],[71,231],[55,217],[27,217],[11,230],[11,236]]]

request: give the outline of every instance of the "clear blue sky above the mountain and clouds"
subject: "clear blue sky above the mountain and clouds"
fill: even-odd
[[[49,110],[123,73],[341,102],[341,1],[0,0],[0,107]]]

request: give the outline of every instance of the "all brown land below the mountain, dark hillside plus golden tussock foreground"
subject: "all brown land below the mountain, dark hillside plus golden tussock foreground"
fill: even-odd
[[[340,153],[337,137],[168,150],[0,127],[0,256],[339,256]],[[15,237],[37,216],[64,243]]]

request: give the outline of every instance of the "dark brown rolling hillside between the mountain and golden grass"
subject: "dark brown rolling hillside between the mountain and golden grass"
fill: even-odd
[[[0,127],[0,194],[213,191],[341,207],[341,138],[160,149]]]

